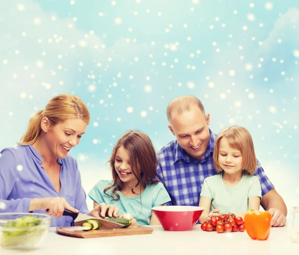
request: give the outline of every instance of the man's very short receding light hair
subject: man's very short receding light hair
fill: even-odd
[[[171,124],[171,114],[177,113],[182,114],[184,112],[189,112],[193,106],[197,106],[203,114],[204,113],[204,107],[201,103],[201,101],[194,97],[194,96],[180,96],[177,98],[172,99],[166,110],[167,120],[169,124]]]

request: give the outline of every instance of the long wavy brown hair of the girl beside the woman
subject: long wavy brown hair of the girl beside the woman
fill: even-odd
[[[158,160],[149,136],[142,131],[127,131],[116,142],[109,160],[112,169],[113,184],[105,188],[104,193],[114,198],[106,192],[116,185],[112,190],[112,193],[116,196],[116,198],[113,199],[114,201],[120,199],[120,195],[116,191],[122,190],[124,187],[124,183],[118,176],[114,166],[116,152],[120,146],[124,146],[128,151],[132,173],[138,180],[137,184],[132,188],[134,194],[136,194],[134,189],[137,188],[139,184],[141,184],[141,187],[146,187],[149,184],[156,184],[159,182],[156,178]]]

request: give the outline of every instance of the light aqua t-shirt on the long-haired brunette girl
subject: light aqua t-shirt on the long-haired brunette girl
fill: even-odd
[[[125,197],[120,191],[117,191],[120,199],[113,201],[113,198],[104,193],[104,189],[112,184],[113,181],[100,180],[88,193],[88,196],[98,204],[104,202],[107,205],[115,205],[120,209],[119,214],[130,214],[137,220],[138,225],[149,225],[151,208],[163,205],[171,200],[162,183],[158,182],[157,184],[148,185],[141,193],[141,196],[137,197]],[[113,188],[106,193],[116,198],[112,190]]]

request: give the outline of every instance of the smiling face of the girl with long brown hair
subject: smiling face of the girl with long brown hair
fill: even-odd
[[[116,151],[114,167],[121,181],[127,183],[129,187],[133,187],[138,182],[131,169],[129,152],[123,145]]]

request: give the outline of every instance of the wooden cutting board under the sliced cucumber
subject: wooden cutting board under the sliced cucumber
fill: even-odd
[[[64,236],[79,237],[79,238],[93,238],[93,237],[117,237],[130,235],[144,235],[150,234],[152,229],[144,226],[130,226],[128,228],[114,229],[114,230],[91,230],[83,231],[82,227],[62,227],[56,228],[56,231]]]

